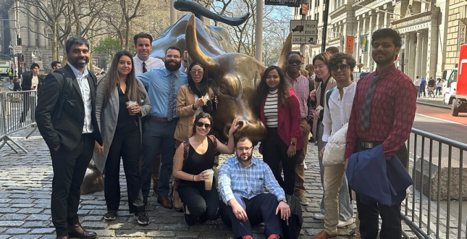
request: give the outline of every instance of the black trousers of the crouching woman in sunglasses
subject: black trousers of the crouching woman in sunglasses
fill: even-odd
[[[193,184],[197,183],[197,184]],[[205,190],[204,181],[184,182],[179,185],[179,196],[183,205],[188,207],[187,215],[196,220],[215,221],[218,218],[219,194],[216,188],[216,179],[212,181],[212,190]]]

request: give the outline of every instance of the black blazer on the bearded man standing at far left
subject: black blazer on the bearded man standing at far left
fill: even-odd
[[[72,90],[69,92],[68,101],[62,105],[62,95],[67,90],[65,77],[72,79]],[[87,77],[91,90],[91,121],[93,125],[93,136],[102,145],[102,138],[95,118],[95,90],[97,82],[95,77],[91,77],[91,72]],[[58,118],[58,110],[61,116]],[[41,91],[38,94],[36,107],[36,123],[47,146],[52,151],[60,145],[68,151],[76,148],[84,125],[84,103],[82,102],[81,90],[78,85],[73,70],[67,65],[54,73],[50,73],[45,78]]]

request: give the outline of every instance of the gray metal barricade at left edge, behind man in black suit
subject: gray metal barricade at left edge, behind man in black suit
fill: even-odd
[[[29,138],[32,133],[37,129],[35,111],[37,104],[37,91],[24,90],[24,91],[10,91],[2,92],[0,101],[1,116],[1,131],[0,149],[7,144],[13,151],[19,153],[14,149],[12,142],[21,151],[27,153],[26,149],[21,147],[12,137],[16,131],[32,127],[32,130],[25,138]]]

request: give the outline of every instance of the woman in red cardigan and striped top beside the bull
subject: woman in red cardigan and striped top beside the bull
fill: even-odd
[[[264,162],[286,194],[293,194],[297,155],[304,147],[298,98],[288,88],[284,72],[278,66],[266,68],[253,98],[255,112],[268,129],[260,145]]]

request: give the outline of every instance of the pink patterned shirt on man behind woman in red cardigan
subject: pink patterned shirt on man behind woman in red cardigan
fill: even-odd
[[[304,75],[299,75],[297,78],[292,79],[286,73],[288,87],[290,87],[295,95],[297,95],[300,105],[300,118],[307,118],[308,112],[312,111],[312,106],[308,108],[308,97],[310,97],[310,81]]]

